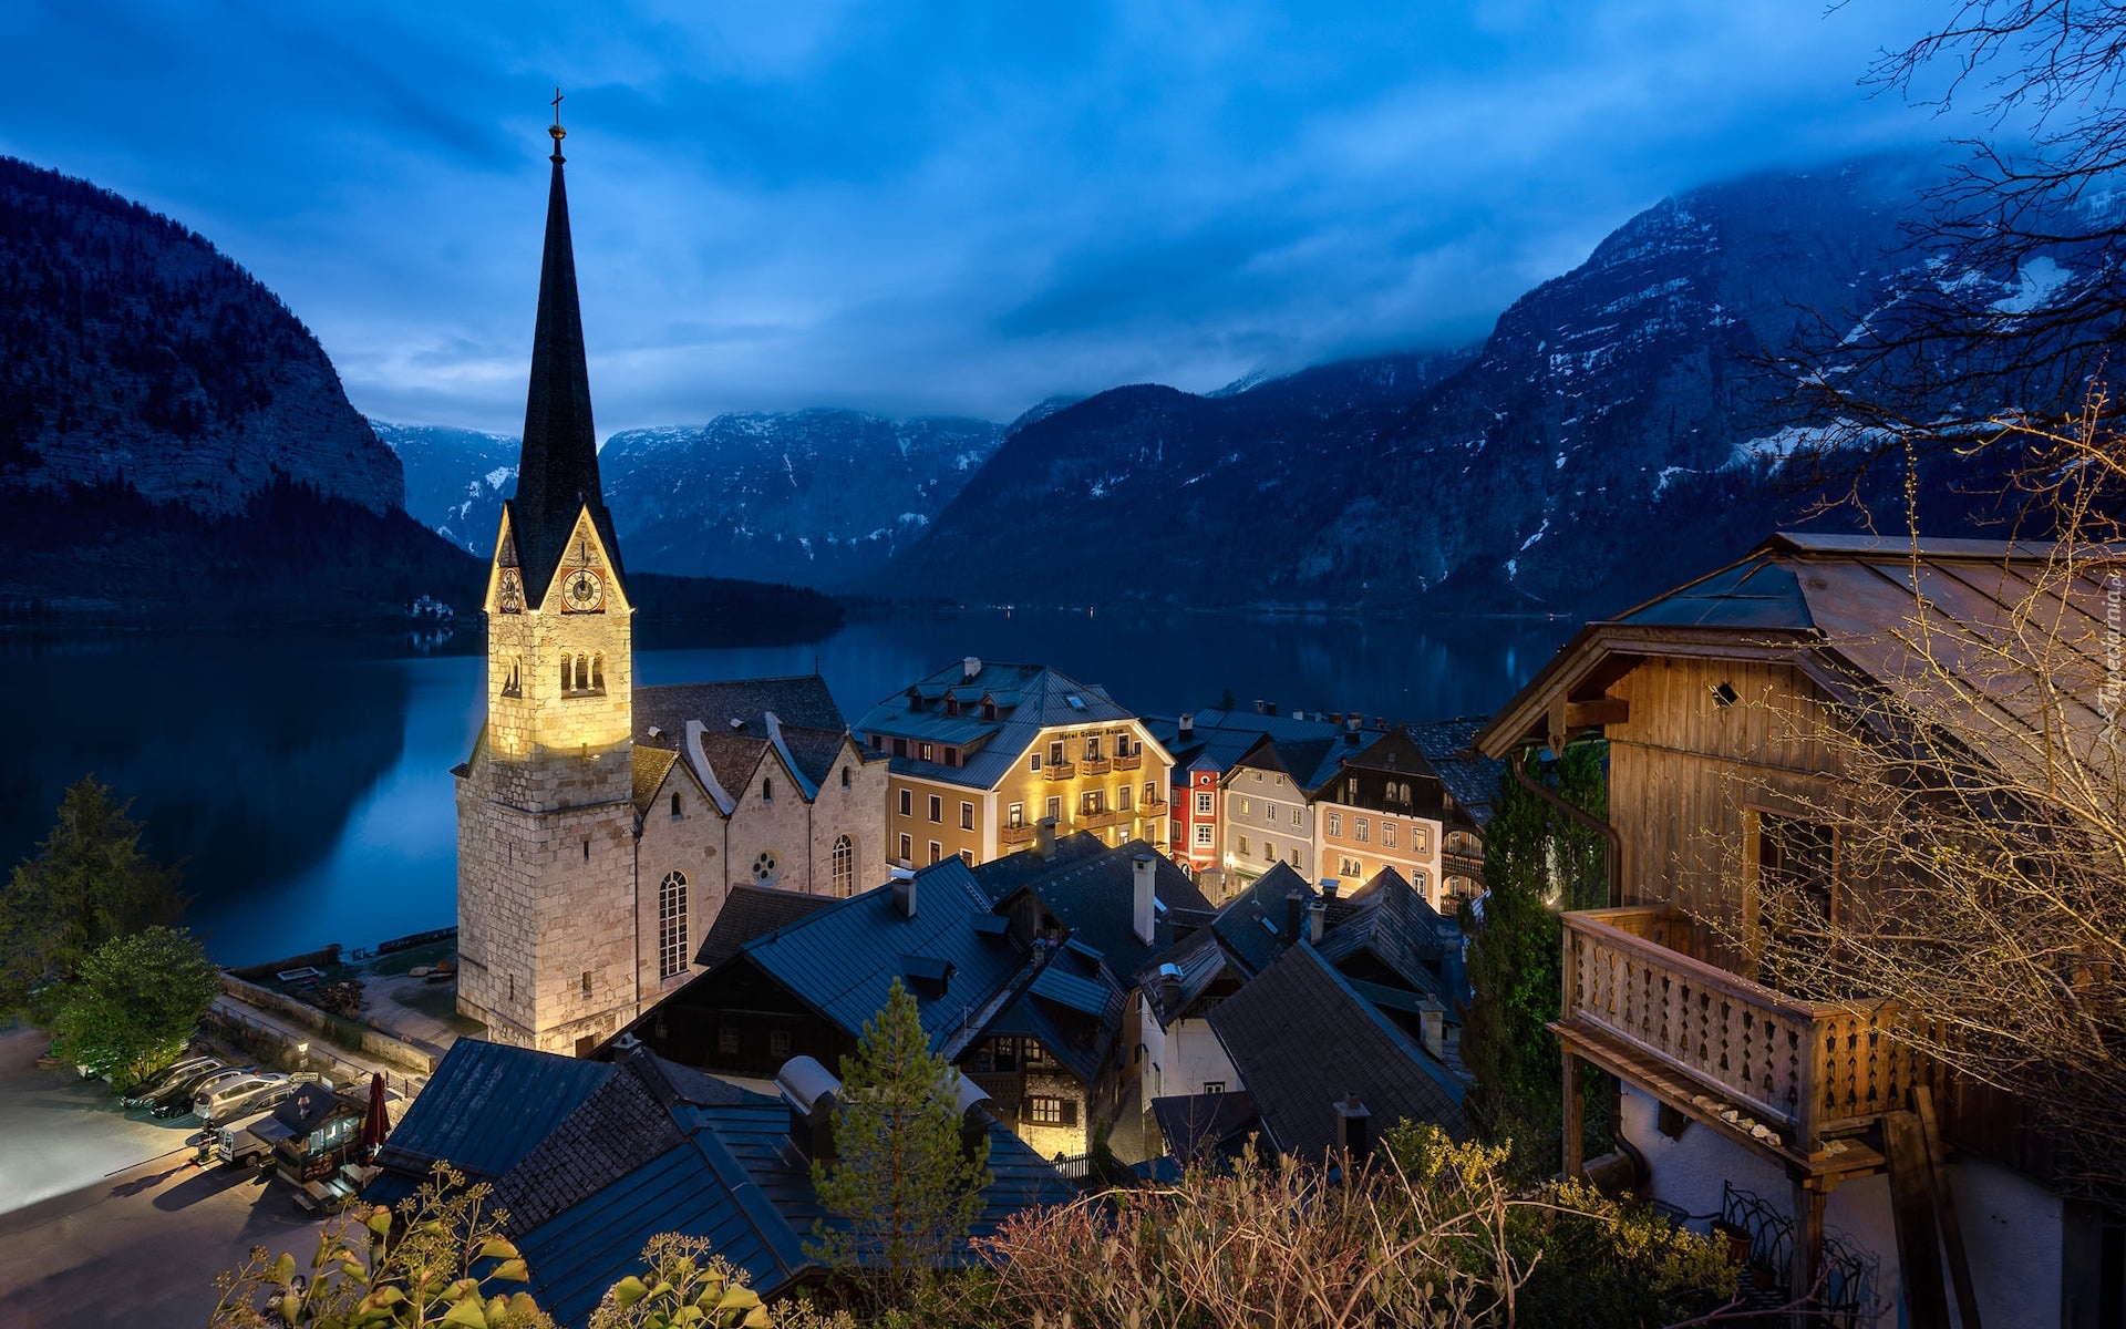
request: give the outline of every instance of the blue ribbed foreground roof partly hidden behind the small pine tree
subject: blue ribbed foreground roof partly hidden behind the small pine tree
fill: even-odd
[[[706,1238],[761,1295],[816,1272],[806,1242],[827,1214],[812,1191],[810,1165],[789,1146],[789,1108],[759,1099],[680,1104],[670,1121],[680,1135],[676,1146],[517,1235],[532,1265],[534,1297],[561,1325],[583,1325],[606,1289],[640,1267],[648,1240],[665,1231]],[[989,1170],[976,1238],[995,1233],[1020,1208],[1076,1197],[1054,1167],[995,1123]],[[972,1252],[963,1248],[955,1259],[969,1261]]]

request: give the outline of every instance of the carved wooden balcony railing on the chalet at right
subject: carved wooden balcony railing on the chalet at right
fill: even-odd
[[[1803,1155],[1933,1080],[1933,1063],[1892,1038],[1894,1004],[1799,1002],[1690,948],[1694,929],[1675,910],[1565,914],[1563,1023],[1652,1053]]]

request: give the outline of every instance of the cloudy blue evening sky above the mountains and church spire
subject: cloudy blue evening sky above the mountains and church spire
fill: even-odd
[[[1939,142],[1939,4],[0,6],[0,151],[206,234],[361,410],[517,432],[568,91],[600,432],[1010,419],[1482,336],[1667,194]]]

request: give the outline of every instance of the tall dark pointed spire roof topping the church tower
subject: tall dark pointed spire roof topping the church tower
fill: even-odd
[[[621,544],[597,478],[597,432],[591,425],[591,372],[583,353],[583,310],[576,302],[576,251],[568,234],[568,185],[561,179],[559,123],[553,134],[553,185],[546,194],[546,257],[538,281],[538,330],[532,336],[532,391],[525,398],[525,442],[510,500],[510,532],[525,591],[538,600],[576,529],[591,523],[621,574]]]

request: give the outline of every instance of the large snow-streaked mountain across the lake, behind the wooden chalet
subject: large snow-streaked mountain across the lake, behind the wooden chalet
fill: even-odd
[[[997,451],[884,587],[972,602],[1607,610],[1813,517],[1760,366],[1930,279],[1928,164],[1697,189],[1507,308],[1473,353],[1201,398],[1118,387]],[[1967,515],[1933,512],[1947,525]]]

